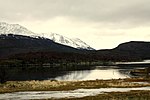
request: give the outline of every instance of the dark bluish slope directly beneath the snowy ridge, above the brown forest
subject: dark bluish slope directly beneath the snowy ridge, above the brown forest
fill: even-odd
[[[13,54],[28,52],[74,52],[80,53],[81,50],[61,45],[46,38],[33,38],[22,35],[0,35],[0,57],[7,57]]]

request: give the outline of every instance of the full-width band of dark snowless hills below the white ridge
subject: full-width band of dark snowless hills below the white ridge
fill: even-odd
[[[23,35],[0,35],[0,58],[7,58],[16,54],[55,52],[77,54],[78,57],[90,60],[130,61],[150,59],[150,42],[131,41],[120,44],[114,49],[83,50],[56,43],[47,38]],[[82,54],[82,57],[80,56]],[[35,55],[34,55],[35,56]],[[44,53],[42,56],[47,56]],[[65,55],[63,55],[65,56]],[[80,59],[80,58],[76,59]],[[36,57],[35,57],[36,58]]]

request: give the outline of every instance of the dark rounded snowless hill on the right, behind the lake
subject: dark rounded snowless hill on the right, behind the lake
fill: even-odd
[[[99,50],[97,54],[107,60],[117,61],[150,59],[150,42],[126,42],[118,45],[114,49]]]

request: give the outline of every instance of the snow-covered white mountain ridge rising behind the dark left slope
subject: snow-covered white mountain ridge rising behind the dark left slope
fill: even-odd
[[[34,33],[19,24],[8,24],[0,22],[0,34],[16,34],[30,37],[44,37],[53,40],[54,42],[71,46],[78,49],[94,50],[80,39],[70,39],[56,33]]]

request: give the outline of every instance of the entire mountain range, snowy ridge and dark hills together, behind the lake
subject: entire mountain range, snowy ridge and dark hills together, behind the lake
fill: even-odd
[[[30,58],[34,56],[36,59],[41,56],[47,57],[45,59],[56,58],[56,61],[59,58],[63,60],[67,58],[66,60],[72,61],[137,61],[150,59],[150,42],[130,41],[122,43],[114,49],[94,50],[80,39],[69,39],[56,33],[40,36],[20,25],[7,23],[0,23],[0,34],[0,58],[17,57],[19,55],[22,55],[23,58],[29,54]],[[37,55],[36,52],[38,52]],[[55,52],[56,57],[52,56],[52,52]],[[61,53],[61,55],[57,53]]]

